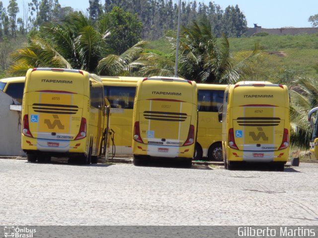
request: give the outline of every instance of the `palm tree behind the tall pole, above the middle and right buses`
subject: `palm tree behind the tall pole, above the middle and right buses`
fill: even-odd
[[[200,21],[180,32],[178,75],[189,80],[205,83],[235,83],[240,76],[249,72],[248,62],[256,56],[254,51],[244,60],[234,63],[230,54],[230,43],[223,35],[221,44],[212,32],[208,21]],[[166,35],[171,52],[175,52],[176,37],[171,32]],[[142,55],[133,63],[150,75],[174,75],[174,59],[153,53]]]

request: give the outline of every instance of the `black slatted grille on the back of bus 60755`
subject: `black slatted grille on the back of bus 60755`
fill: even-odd
[[[54,113],[54,114],[76,114],[79,111],[78,106],[34,103],[32,109],[36,113]]]

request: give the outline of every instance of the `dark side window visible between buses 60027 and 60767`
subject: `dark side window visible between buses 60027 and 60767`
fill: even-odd
[[[223,104],[224,90],[198,90],[199,112],[217,113]]]

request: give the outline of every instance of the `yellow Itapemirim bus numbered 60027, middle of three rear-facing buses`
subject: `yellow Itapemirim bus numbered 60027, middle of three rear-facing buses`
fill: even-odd
[[[179,158],[192,165],[197,133],[197,86],[193,81],[150,77],[139,80],[133,111],[133,162]]]

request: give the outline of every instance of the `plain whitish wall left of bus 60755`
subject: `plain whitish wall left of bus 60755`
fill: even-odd
[[[10,110],[10,105],[19,103],[0,91],[0,156],[25,155],[21,150],[21,111]]]

